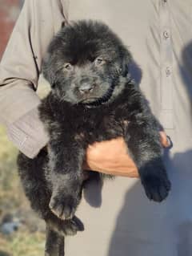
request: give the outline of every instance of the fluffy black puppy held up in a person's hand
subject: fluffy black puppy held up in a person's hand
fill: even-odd
[[[74,213],[86,148],[95,141],[123,136],[146,196],[162,201],[168,195],[160,125],[129,79],[130,61],[122,41],[101,22],[64,26],[50,43],[42,71],[52,90],[39,107],[50,136],[48,154],[34,160],[21,154],[18,166],[32,207],[57,232],[82,230]]]

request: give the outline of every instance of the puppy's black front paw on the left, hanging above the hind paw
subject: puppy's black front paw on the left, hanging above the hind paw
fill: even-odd
[[[70,219],[74,216],[78,201],[71,195],[62,193],[52,195],[50,198],[50,210],[62,220]]]

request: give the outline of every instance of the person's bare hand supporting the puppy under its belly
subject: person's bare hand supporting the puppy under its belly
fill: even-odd
[[[160,132],[160,139],[164,148],[170,146],[165,132]],[[90,145],[86,151],[83,169],[116,176],[139,177],[138,169],[127,154],[126,143],[122,137]]]

